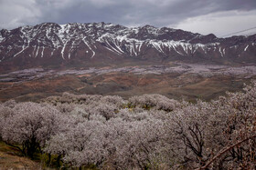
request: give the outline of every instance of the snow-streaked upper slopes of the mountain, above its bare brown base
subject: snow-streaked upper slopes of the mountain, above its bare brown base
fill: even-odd
[[[4,46],[7,40],[12,44]],[[221,44],[224,41],[226,39],[218,39],[215,35],[199,35],[151,25],[125,27],[105,23],[43,23],[22,26],[7,32],[2,30],[0,46],[4,50],[0,51],[0,55],[11,54],[16,57],[26,51],[31,53],[28,56],[37,57],[40,53],[43,57],[46,52],[51,56],[61,56],[65,60],[72,58],[80,49],[85,49],[84,55],[90,54],[91,58],[100,54],[100,49],[109,50],[115,55],[138,57],[144,55],[144,51],[148,49],[153,49],[158,55],[193,56],[215,53],[221,57],[229,55],[230,50],[248,51],[249,44],[230,43],[223,46]],[[255,45],[255,42],[250,45]],[[32,49],[27,50],[29,47]]]

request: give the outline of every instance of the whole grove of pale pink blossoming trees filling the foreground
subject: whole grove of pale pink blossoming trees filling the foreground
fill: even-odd
[[[254,169],[256,82],[192,104],[163,95],[51,96],[0,105],[0,136],[59,167]]]

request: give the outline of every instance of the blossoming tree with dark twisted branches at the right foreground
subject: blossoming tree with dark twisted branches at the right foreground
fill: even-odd
[[[210,103],[184,105],[169,124],[176,167],[253,169],[256,165],[256,82],[244,93],[228,93]]]

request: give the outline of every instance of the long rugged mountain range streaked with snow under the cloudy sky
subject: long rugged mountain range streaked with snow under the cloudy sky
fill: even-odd
[[[218,38],[151,25],[43,23],[0,32],[0,65],[114,63],[123,59],[256,63],[256,35]]]

